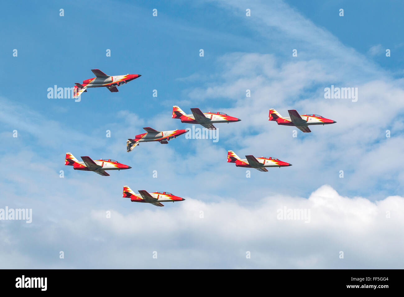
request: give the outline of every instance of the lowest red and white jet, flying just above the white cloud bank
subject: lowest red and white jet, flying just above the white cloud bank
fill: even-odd
[[[132,202],[143,202],[143,203],[151,203],[156,206],[164,206],[160,202],[175,202],[175,201],[183,201],[184,198],[175,196],[168,192],[154,192],[148,193],[145,190],[139,190],[139,195],[136,195],[130,187],[124,185],[124,192],[122,194],[123,198],[130,198]]]

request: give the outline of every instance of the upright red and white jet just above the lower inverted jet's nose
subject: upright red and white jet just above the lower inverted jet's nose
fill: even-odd
[[[178,106],[173,106],[172,118],[181,119],[181,123],[200,124],[210,130],[216,130],[214,123],[231,123],[241,121],[223,112],[201,112],[199,108],[191,108],[192,114],[185,114]]]

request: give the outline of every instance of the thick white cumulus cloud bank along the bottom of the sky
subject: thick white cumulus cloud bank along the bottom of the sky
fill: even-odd
[[[33,249],[51,247],[54,257],[60,249],[65,259],[57,265],[65,268],[366,269],[404,264],[397,257],[404,247],[400,196],[371,202],[341,196],[324,185],[308,198],[271,194],[204,202],[185,197],[158,209],[121,198],[130,211],[112,210],[111,218],[100,208],[59,222],[37,216],[33,227],[52,237],[34,238],[19,224],[2,230],[2,246],[18,255],[24,238]],[[308,217],[296,215],[302,211]],[[54,257],[42,263],[33,257],[24,264],[4,259],[3,266],[53,267]]]

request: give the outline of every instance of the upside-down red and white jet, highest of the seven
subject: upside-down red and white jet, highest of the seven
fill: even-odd
[[[101,86],[107,87],[110,92],[118,92],[117,86],[126,84],[127,82],[142,76],[141,74],[110,76],[99,69],[92,69],[91,71],[95,74],[95,77],[83,80],[82,84],[76,82],[76,85],[74,86],[74,98],[79,97],[83,92],[87,92],[87,88],[99,88]]]

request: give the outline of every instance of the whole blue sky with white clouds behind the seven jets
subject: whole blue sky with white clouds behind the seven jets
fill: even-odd
[[[400,263],[387,255],[396,251],[386,246],[402,247],[394,241],[402,234],[392,232],[384,238],[379,228],[369,230],[385,211],[398,213],[404,205],[404,43],[399,30],[403,5],[5,3],[0,78],[13,83],[0,93],[0,150],[2,163],[11,166],[2,168],[0,208],[32,208],[34,219],[29,225],[1,222],[5,239],[0,259],[18,258],[15,265],[21,268],[397,268]],[[157,17],[152,16],[154,8]],[[246,8],[251,17],[246,17]],[[338,15],[340,8],[343,17]],[[199,56],[201,48],[204,57]],[[295,48],[298,56],[292,57]],[[387,48],[391,57],[385,56]],[[106,57],[107,49],[111,57]],[[72,87],[93,77],[94,68],[109,75],[142,76],[118,93],[88,89],[80,102],[47,98],[49,87]],[[358,87],[358,102],[324,99],[324,88],[332,84]],[[152,97],[154,89],[158,97]],[[251,97],[246,97],[246,89]],[[218,143],[179,137],[168,145],[145,143],[127,153],[126,139],[144,126],[160,131],[191,127],[171,118],[173,105],[185,112],[191,107],[226,112],[242,121],[218,124]],[[288,109],[320,114],[337,124],[314,127],[307,134],[297,131],[294,138],[292,128],[267,121],[269,108],[282,115]],[[385,136],[386,130],[391,137]],[[244,169],[226,162],[227,150],[239,156],[274,156],[293,166],[267,173],[254,170],[246,178]],[[73,171],[64,166],[66,152],[76,158],[116,159],[133,169],[107,178]],[[158,178],[152,177],[154,170]],[[344,178],[339,177],[341,170]],[[123,185],[135,191],[166,190],[187,200],[161,209],[130,203],[122,198]],[[283,205],[324,209],[312,212],[318,215],[312,220],[316,223],[308,224],[314,229],[299,225],[295,229],[303,229],[297,235],[292,227],[271,221]],[[205,209],[203,227],[195,220]],[[330,209],[337,210],[330,214]],[[358,247],[350,227],[345,230],[348,239],[338,246],[336,226],[347,223],[351,209],[358,209],[351,223],[368,230],[361,235],[364,242],[383,237],[386,246],[371,241]],[[114,223],[105,223],[105,211],[113,211]],[[330,221],[337,233],[324,247],[311,251],[307,238],[321,242],[322,228],[333,228]],[[175,228],[173,223],[183,226]],[[227,229],[206,232],[227,223]],[[267,228],[256,230],[254,223]],[[385,229],[403,220],[397,215],[375,224]],[[268,231],[278,228],[282,233]],[[24,247],[21,236],[32,249]],[[268,238],[279,239],[279,244],[269,248]],[[286,249],[291,240],[305,248]],[[82,245],[95,249],[95,255],[88,258]],[[145,258],[156,249],[170,251],[172,257],[151,262],[125,253],[134,247]],[[338,262],[329,257],[344,248],[363,259]],[[364,255],[379,248],[381,256],[369,262]],[[249,249],[255,251],[255,260],[245,263]],[[64,250],[69,257],[61,260],[59,251]],[[206,251],[211,250],[217,252],[209,255]],[[13,262],[4,266],[12,268]]]

